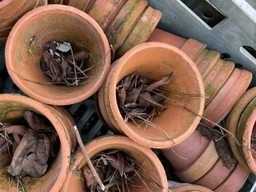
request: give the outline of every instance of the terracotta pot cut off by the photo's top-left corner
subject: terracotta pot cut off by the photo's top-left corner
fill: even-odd
[[[5,44],[13,25],[33,8],[47,4],[47,0],[3,0],[0,2],[0,45]]]

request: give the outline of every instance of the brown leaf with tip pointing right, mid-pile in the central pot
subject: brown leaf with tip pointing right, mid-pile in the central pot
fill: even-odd
[[[150,107],[150,106],[156,106],[156,107],[160,107],[161,109],[167,109],[167,106],[164,106],[162,104],[160,104],[159,102],[157,102],[156,100],[154,100],[149,92],[142,92],[140,93],[139,97],[138,97],[138,104],[139,106],[142,107]]]

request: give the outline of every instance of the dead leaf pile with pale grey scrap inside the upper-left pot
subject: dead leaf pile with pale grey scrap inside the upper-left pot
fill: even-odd
[[[88,78],[82,70],[88,56],[85,50],[73,52],[68,42],[52,40],[44,48],[40,67],[53,83],[77,86],[81,79]]]

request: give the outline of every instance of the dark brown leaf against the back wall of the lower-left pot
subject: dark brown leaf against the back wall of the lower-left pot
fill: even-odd
[[[35,115],[35,113],[29,110],[25,110],[23,116],[28,122],[29,127],[34,129],[35,131],[52,129],[51,126],[47,125],[41,118],[39,118]]]

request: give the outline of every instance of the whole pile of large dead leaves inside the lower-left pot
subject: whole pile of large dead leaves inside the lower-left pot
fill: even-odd
[[[47,170],[51,145],[55,141],[51,137],[56,136],[56,131],[29,110],[24,111],[23,116],[28,126],[5,123],[1,127],[0,154],[8,152],[12,156],[6,168],[10,175],[40,177]]]

